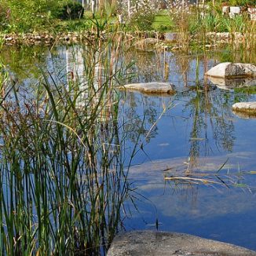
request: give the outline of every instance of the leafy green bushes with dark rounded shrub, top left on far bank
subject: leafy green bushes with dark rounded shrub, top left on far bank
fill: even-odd
[[[48,30],[57,18],[78,18],[82,15],[82,6],[71,0],[0,0],[2,31]]]

